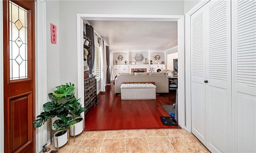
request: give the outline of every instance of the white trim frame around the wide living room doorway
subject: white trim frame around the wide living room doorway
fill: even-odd
[[[77,14],[77,61],[78,61],[78,97],[84,97],[84,63],[83,63],[83,20],[121,20],[121,21],[177,21],[178,22],[178,67],[185,68],[184,64],[184,16],[176,15],[128,15],[128,14]],[[178,88],[178,121],[182,128],[185,126],[185,70],[179,71]],[[84,99],[81,99],[84,106]],[[83,114],[84,117],[84,114]]]

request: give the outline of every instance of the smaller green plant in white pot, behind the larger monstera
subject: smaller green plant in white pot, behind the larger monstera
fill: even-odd
[[[73,97],[68,105],[68,109],[71,112],[71,117],[74,121],[76,121],[76,124],[70,126],[70,135],[72,136],[80,134],[84,129],[83,117],[81,113],[84,112],[86,108],[82,107],[82,104],[78,101],[79,99]]]

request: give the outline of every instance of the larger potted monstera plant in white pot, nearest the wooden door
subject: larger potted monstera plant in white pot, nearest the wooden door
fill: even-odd
[[[68,117],[71,115],[69,108],[69,104],[74,96],[74,84],[66,83],[66,85],[60,85],[56,87],[57,89],[54,93],[49,93],[50,99],[52,101],[48,101],[43,105],[44,112],[38,115],[34,123],[34,127],[40,127],[44,124],[47,119],[52,119],[52,129],[59,130],[54,133],[54,144],[57,147],[56,138],[60,137],[58,140],[58,146],[64,145],[68,141],[68,132],[67,127],[74,125],[76,120],[72,119],[72,117]]]

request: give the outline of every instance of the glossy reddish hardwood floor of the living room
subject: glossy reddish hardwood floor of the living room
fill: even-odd
[[[112,82],[97,97],[99,104],[85,116],[85,131],[180,128],[163,125],[160,119],[170,117],[161,105],[175,103],[176,91],[156,95],[156,100],[121,100]]]

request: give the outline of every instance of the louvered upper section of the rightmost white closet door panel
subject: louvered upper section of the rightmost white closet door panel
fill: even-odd
[[[237,2],[237,84],[256,87],[256,1]]]

